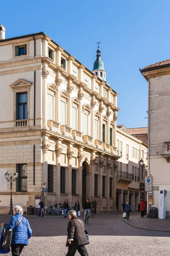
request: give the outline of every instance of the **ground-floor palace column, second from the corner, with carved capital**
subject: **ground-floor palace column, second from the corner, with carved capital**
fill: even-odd
[[[60,202],[60,163],[61,163],[61,142],[62,139],[57,140],[56,146],[55,146],[55,154],[56,154],[56,202]]]

